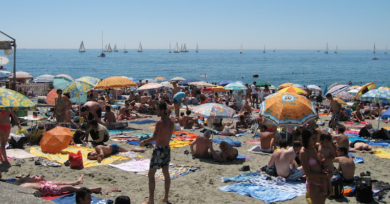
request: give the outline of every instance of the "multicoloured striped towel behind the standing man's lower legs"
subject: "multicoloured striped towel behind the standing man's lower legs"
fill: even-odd
[[[196,172],[196,171],[199,171],[199,170],[202,170],[201,167],[172,165],[172,166],[169,166],[169,177],[170,177],[170,179],[175,179],[175,178],[177,178],[179,176],[183,176],[183,175],[186,175],[188,173]],[[148,176],[148,173],[149,173],[149,170],[138,172],[136,174],[143,175],[143,176]],[[164,174],[162,173],[162,170],[158,169],[156,171],[156,174],[155,174],[154,177],[155,178],[160,178],[160,179],[164,180]]]

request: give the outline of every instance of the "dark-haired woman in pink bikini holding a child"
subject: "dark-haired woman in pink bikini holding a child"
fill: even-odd
[[[302,131],[303,148],[299,152],[299,158],[304,172],[306,173],[306,190],[309,193],[312,204],[325,203],[326,196],[320,196],[323,184],[321,179],[330,179],[333,172],[323,174],[321,157],[314,147],[318,140],[317,132],[312,128],[305,128]]]

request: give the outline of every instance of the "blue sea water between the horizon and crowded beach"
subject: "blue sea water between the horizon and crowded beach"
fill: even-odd
[[[275,86],[285,82],[324,87],[339,82],[352,81],[354,85],[368,82],[379,86],[389,86],[390,55],[384,50],[330,50],[329,54],[316,50],[218,50],[201,49],[199,53],[168,53],[167,49],[128,49],[128,53],[106,53],[97,57],[101,49],[17,49],[16,71],[27,71],[38,77],[42,74],[65,73],[77,79],[84,76],[105,79],[126,76],[135,79],[174,77],[195,78],[206,82],[224,80],[267,81]],[[173,50],[172,50],[173,51]],[[13,69],[13,56],[4,68]],[[379,60],[372,60],[377,57]],[[294,72],[294,73],[293,73]],[[253,74],[259,78],[253,78]],[[199,77],[207,74],[207,78]]]

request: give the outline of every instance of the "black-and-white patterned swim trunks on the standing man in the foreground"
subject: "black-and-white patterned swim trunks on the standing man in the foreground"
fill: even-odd
[[[170,162],[170,147],[156,145],[153,150],[152,159],[150,160],[150,168],[160,169],[163,166],[169,166]]]

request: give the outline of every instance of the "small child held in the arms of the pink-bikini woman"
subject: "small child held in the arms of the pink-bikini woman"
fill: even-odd
[[[318,153],[321,160],[322,168],[324,172],[333,172],[333,160],[335,158],[335,147],[332,142],[332,136],[329,133],[322,133],[320,136],[320,143],[317,143]],[[332,184],[330,179],[321,179],[324,188],[318,192],[319,196],[330,197],[333,195]]]

